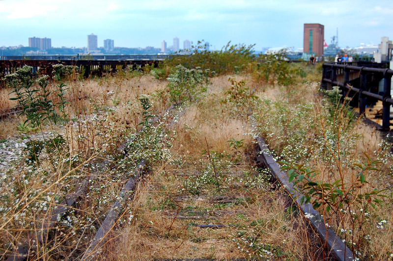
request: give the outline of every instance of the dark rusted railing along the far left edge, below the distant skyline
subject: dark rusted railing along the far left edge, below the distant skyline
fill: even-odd
[[[78,66],[84,77],[91,74],[102,76],[103,73],[116,72],[121,69],[140,69],[144,66],[157,67],[160,60],[0,60],[0,79],[12,74],[18,67],[28,65],[32,67],[33,75],[45,74],[52,76],[53,66],[62,64],[65,66]],[[83,68],[83,69],[81,69]]]

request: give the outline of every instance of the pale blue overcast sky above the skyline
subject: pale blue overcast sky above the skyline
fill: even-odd
[[[393,40],[393,0],[0,0],[0,46],[28,46],[28,37],[52,38],[53,47],[168,46],[173,38],[205,40],[219,50],[228,41],[303,48],[303,25],[325,26],[340,47]]]

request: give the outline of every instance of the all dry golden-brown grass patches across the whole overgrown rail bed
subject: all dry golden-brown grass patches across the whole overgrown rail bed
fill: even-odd
[[[206,97],[184,108],[184,113],[171,127],[176,132],[174,140],[171,141],[173,162],[155,162],[151,166],[150,176],[140,183],[135,198],[126,200],[127,204],[121,211],[118,223],[108,235],[109,241],[103,247],[100,259],[152,260],[199,257],[228,260],[247,258],[249,254],[257,258],[259,252],[250,246],[250,238],[254,240],[254,245],[258,244],[259,250],[263,248],[267,251],[281,251],[283,254],[276,256],[277,260],[321,258],[318,240],[308,234],[301,215],[295,209],[287,209],[287,202],[282,200],[283,192],[280,189],[271,190],[266,180],[257,180],[258,174],[262,175],[260,177],[264,174],[253,167],[251,120],[246,116],[246,110],[240,110],[228,102],[227,92],[231,88],[228,78],[229,76],[212,78]],[[307,153],[313,156],[300,157],[300,161],[318,169],[320,180],[337,179],[337,164],[332,164],[332,161],[320,155],[322,150],[327,150],[326,144],[316,142],[324,140],[320,127],[324,126],[327,132],[331,126],[323,125],[326,123],[326,119],[323,118],[325,104],[320,101],[322,97],[317,93],[315,82],[294,83],[285,87],[277,84],[258,85],[249,75],[234,78],[238,82],[245,80],[249,90],[263,100],[258,102],[260,107],[253,104],[253,109],[259,116],[263,116],[256,118],[259,120],[258,130],[266,135],[266,141],[271,149],[279,152],[281,156],[281,152],[289,150],[284,145],[292,144],[292,137],[302,137],[301,141],[294,140],[293,145],[307,147]],[[3,242],[0,251],[2,258],[15,248],[17,242],[27,236],[31,226],[39,230],[41,221],[48,216],[49,209],[58,203],[61,196],[72,191],[85,177],[90,177],[86,197],[75,206],[75,209],[67,213],[66,218],[59,223],[58,229],[48,236],[48,242],[39,245],[36,248],[38,254],[31,258],[74,259],[84,253],[89,240],[115,200],[115,195],[129,177],[124,177],[123,170],[116,165],[119,157],[116,147],[126,135],[141,128],[138,126],[141,121],[138,97],[141,94],[152,95],[154,113],[159,114],[168,107],[169,102],[156,95],[156,91],[164,91],[166,84],[166,80],[157,80],[148,75],[131,78],[126,74],[67,82],[70,87],[67,98],[71,101],[67,112],[70,113],[73,123],[65,128],[55,126],[48,127],[47,130],[67,134],[68,144],[64,153],[71,155],[69,157],[78,154],[80,161],[76,161],[77,165],[69,165],[61,161],[65,159],[63,157],[58,161],[61,162],[59,166],[46,157],[43,158],[45,162],[41,168],[34,170],[34,174],[30,174],[29,168],[26,168],[24,159],[14,163],[13,169],[7,172],[7,180],[3,180],[1,185],[1,191],[10,197],[8,205],[3,206],[11,206],[3,215],[3,220],[7,222],[6,228],[0,230]],[[111,91],[114,92],[113,95],[109,95]],[[90,100],[85,96],[89,96]],[[284,103],[281,104],[282,107],[278,107],[267,103],[268,100]],[[1,99],[0,104],[7,103]],[[304,106],[309,107],[304,109]],[[298,114],[302,110],[306,110],[307,113]],[[285,117],[281,117],[282,115]],[[313,119],[317,124],[308,125],[309,119]],[[0,138],[18,134],[16,127],[21,122],[23,119],[2,121],[4,128],[0,132]],[[262,126],[266,129],[262,130]],[[361,121],[357,121],[350,128],[350,131],[345,133],[352,133],[351,137],[345,137],[341,143],[342,150],[349,155],[345,159],[341,158],[341,173],[344,174],[345,182],[352,182],[357,174],[356,170],[351,168],[350,160],[365,160],[364,153],[372,158],[382,157],[385,161],[380,167],[381,171],[371,171],[367,174],[366,179],[370,184],[362,188],[362,191],[374,187],[388,188],[386,194],[391,196],[392,180],[389,176],[389,166],[392,164],[392,157],[386,148],[380,145],[383,140],[374,129],[363,125]],[[229,147],[228,140],[232,138],[237,141],[243,139],[244,142],[244,147],[239,148],[236,154],[233,148]],[[292,155],[298,153],[295,150],[292,152]],[[299,155],[303,152],[304,150],[301,150]],[[208,157],[209,153],[214,160]],[[286,160],[292,155],[287,153],[282,159]],[[94,160],[90,160],[90,157],[94,157]],[[95,170],[93,167],[97,167],[92,163],[99,162],[101,158],[110,159],[112,169],[99,172],[96,179],[92,179],[91,175]],[[73,168],[76,169],[70,171]],[[213,170],[214,168],[217,169]],[[215,171],[218,173],[220,189],[214,184]],[[204,173],[210,175],[207,177],[210,179],[207,183],[197,180]],[[24,180],[28,180],[28,183]],[[190,184],[198,185],[197,191],[190,188]],[[19,189],[17,191],[20,194],[14,193],[15,188]],[[32,192],[41,193],[39,191],[45,189],[47,191],[42,196],[32,197],[35,199],[34,203],[38,204],[37,209],[24,213],[23,209],[12,207],[12,202],[16,199],[26,200],[31,198]],[[212,200],[219,195],[233,196],[233,202],[222,203]],[[5,204],[4,202],[2,204]],[[40,204],[45,204],[46,209],[40,207]],[[362,251],[367,255],[373,254],[374,259],[387,257],[387,253],[392,252],[392,206],[390,197],[386,200],[386,205],[370,211],[370,220],[363,228],[372,243],[365,244]],[[355,210],[360,213],[359,209]],[[21,215],[16,217],[17,214]],[[134,217],[130,221],[131,215]],[[191,219],[190,216],[205,217]],[[70,220],[67,220],[67,217]],[[387,220],[384,229],[376,227],[381,220]],[[335,219],[333,221],[336,222]],[[209,223],[223,224],[225,227],[202,229],[194,226]],[[351,227],[349,215],[345,216],[343,224],[346,228]],[[363,238],[365,235],[362,235]],[[356,242],[360,239],[363,240],[360,237],[354,238]],[[10,245],[7,244],[8,241],[11,241]],[[377,257],[378,253],[381,254]]]

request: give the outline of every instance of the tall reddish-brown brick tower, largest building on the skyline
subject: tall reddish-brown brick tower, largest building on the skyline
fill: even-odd
[[[323,56],[324,26],[304,24],[303,52]]]

